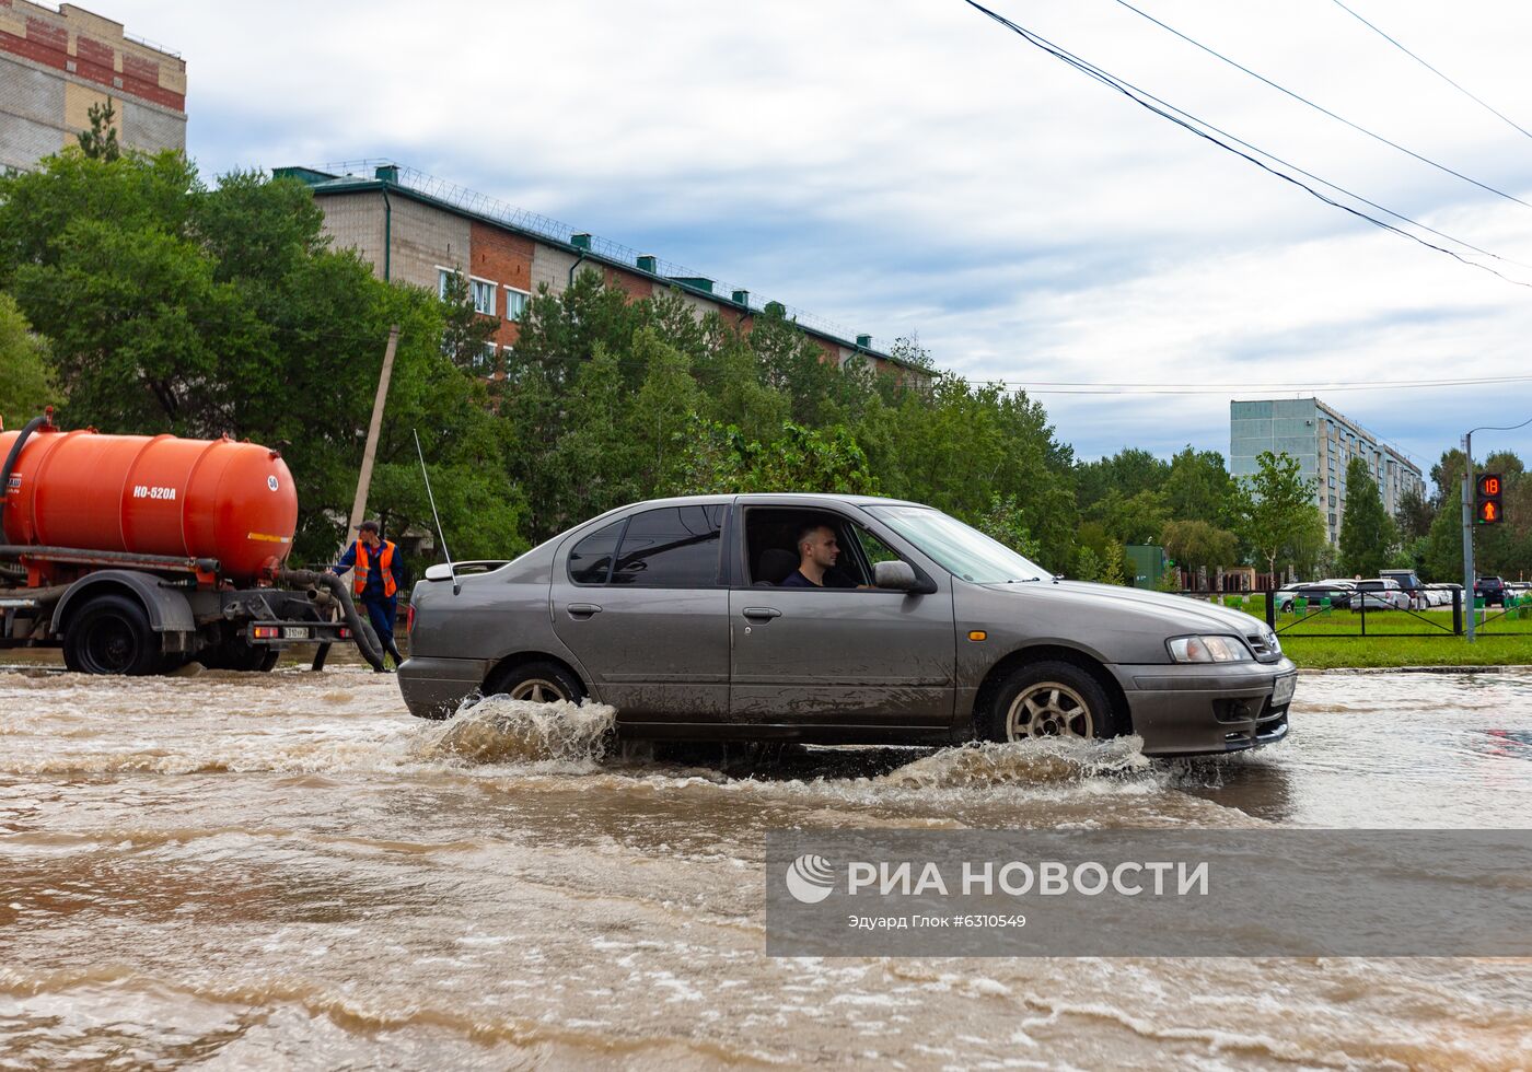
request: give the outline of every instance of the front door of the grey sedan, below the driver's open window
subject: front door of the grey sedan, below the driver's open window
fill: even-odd
[[[818,505],[818,504],[815,504]],[[729,718],[763,724],[950,726],[956,649],[947,574],[916,562],[890,533],[836,521],[843,554],[858,556],[876,539],[931,577],[938,591],[912,594],[876,588],[752,587],[729,591],[732,672]],[[737,527],[743,531],[743,524]]]

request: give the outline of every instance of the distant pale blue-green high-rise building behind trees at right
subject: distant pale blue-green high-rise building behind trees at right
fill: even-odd
[[[1350,417],[1318,398],[1267,398],[1229,403],[1229,472],[1250,476],[1256,458],[1270,450],[1298,461],[1299,472],[1316,481],[1314,504],[1325,519],[1330,542],[1340,538],[1345,515],[1345,470],[1360,458],[1383,496],[1383,508],[1399,515],[1399,504],[1409,492],[1425,498],[1426,482],[1420,467],[1394,447],[1382,443]]]

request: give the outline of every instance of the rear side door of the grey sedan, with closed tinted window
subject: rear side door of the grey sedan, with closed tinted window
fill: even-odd
[[[555,559],[553,629],[624,723],[728,715],[725,511],[651,507],[571,538]]]

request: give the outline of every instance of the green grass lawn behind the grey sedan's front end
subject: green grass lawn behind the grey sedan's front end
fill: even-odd
[[[1233,605],[1233,597],[1226,597]],[[1265,620],[1264,597],[1244,600],[1247,614]],[[1368,611],[1367,636],[1362,616],[1353,611],[1278,614],[1282,651],[1304,669],[1348,666],[1532,666],[1532,606],[1504,617],[1500,608],[1480,614],[1492,620],[1478,626],[1477,639],[1452,636],[1452,610],[1411,614]],[[1400,636],[1426,632],[1432,636]]]

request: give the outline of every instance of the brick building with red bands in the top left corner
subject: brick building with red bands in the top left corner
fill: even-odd
[[[187,144],[187,64],[70,3],[0,0],[0,170],[28,170],[75,144],[90,106],[110,96],[118,144]]]

